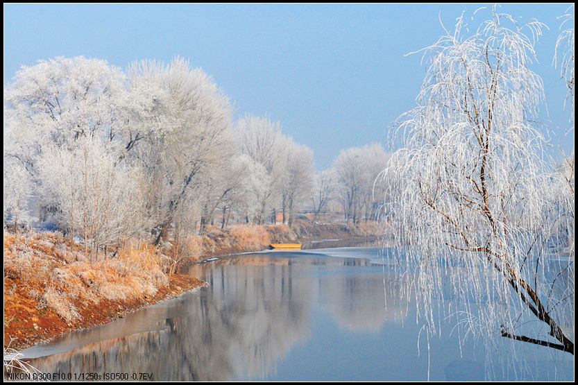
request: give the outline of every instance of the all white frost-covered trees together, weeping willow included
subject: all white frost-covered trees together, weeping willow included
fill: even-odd
[[[556,163],[546,151],[529,69],[545,26],[479,12],[491,15],[479,28],[459,17],[423,50],[416,107],[394,130],[402,148],[343,149],[318,173],[280,122],[234,121],[229,97],[183,58],[23,66],[4,87],[4,225],[56,230],[91,266],[131,240],[171,249],[175,266],[209,226],[377,218],[429,332],[450,272],[455,295],[476,299],[457,312],[468,332],[573,354],[574,153]],[[573,7],[561,24],[552,52],[573,111]]]

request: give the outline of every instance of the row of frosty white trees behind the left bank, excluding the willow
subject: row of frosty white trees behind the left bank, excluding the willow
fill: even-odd
[[[359,223],[383,202],[388,156],[349,148],[315,173],[310,148],[268,117],[234,122],[228,96],[182,58],[122,71],[58,57],[4,87],[5,225],[60,230],[91,250],[158,243],[169,229],[178,242],[210,223],[291,224],[297,210]]]

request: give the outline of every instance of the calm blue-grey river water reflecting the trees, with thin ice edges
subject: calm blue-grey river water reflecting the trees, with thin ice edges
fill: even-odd
[[[198,264],[205,288],[24,353],[52,380],[574,380],[570,354],[520,343],[512,357],[452,320],[428,335],[382,260],[356,247]]]

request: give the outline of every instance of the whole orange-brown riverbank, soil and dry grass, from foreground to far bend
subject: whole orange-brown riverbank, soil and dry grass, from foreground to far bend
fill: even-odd
[[[184,271],[208,257],[259,251],[270,243],[375,239],[377,232],[375,223],[209,228],[205,236],[187,243],[189,250],[181,252],[178,265]],[[175,261],[171,252],[167,243],[157,248],[140,243],[106,257],[91,256],[57,234],[5,231],[4,347],[22,350],[203,286],[195,277],[167,273],[176,271],[167,268]]]

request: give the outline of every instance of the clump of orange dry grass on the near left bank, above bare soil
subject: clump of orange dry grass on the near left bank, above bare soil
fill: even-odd
[[[81,318],[73,302],[130,300],[153,296],[169,278],[163,259],[151,246],[131,245],[114,258],[90,264],[76,245],[56,234],[4,232],[4,283],[18,282],[20,292],[71,322]],[[10,293],[5,293],[6,304]],[[5,319],[6,322],[6,319]]]

